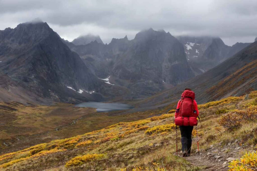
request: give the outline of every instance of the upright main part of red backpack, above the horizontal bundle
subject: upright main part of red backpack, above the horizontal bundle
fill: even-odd
[[[185,90],[181,95],[180,114],[184,117],[190,117],[194,114],[195,92]]]

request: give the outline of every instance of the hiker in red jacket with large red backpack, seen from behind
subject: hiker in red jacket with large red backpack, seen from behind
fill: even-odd
[[[192,131],[197,125],[199,111],[195,100],[195,93],[186,88],[181,95],[175,113],[175,124],[179,126],[183,157],[190,156],[192,145]]]

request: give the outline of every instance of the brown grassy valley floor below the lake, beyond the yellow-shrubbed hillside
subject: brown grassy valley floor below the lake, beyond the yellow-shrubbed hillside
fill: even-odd
[[[128,113],[98,113],[93,108],[79,108],[58,103],[52,106],[0,102],[0,155],[55,139],[69,138],[116,124],[145,119],[167,112],[161,110]]]

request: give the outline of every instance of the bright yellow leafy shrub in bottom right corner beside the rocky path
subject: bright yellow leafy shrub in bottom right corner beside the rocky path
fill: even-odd
[[[229,163],[229,171],[254,171],[257,168],[257,151],[246,152],[240,159]]]

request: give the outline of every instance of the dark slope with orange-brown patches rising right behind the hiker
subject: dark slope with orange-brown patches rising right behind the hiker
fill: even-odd
[[[142,100],[138,104],[152,106],[177,101],[186,87],[196,92],[198,103],[231,95],[240,96],[257,89],[257,42],[250,44],[206,73]]]

